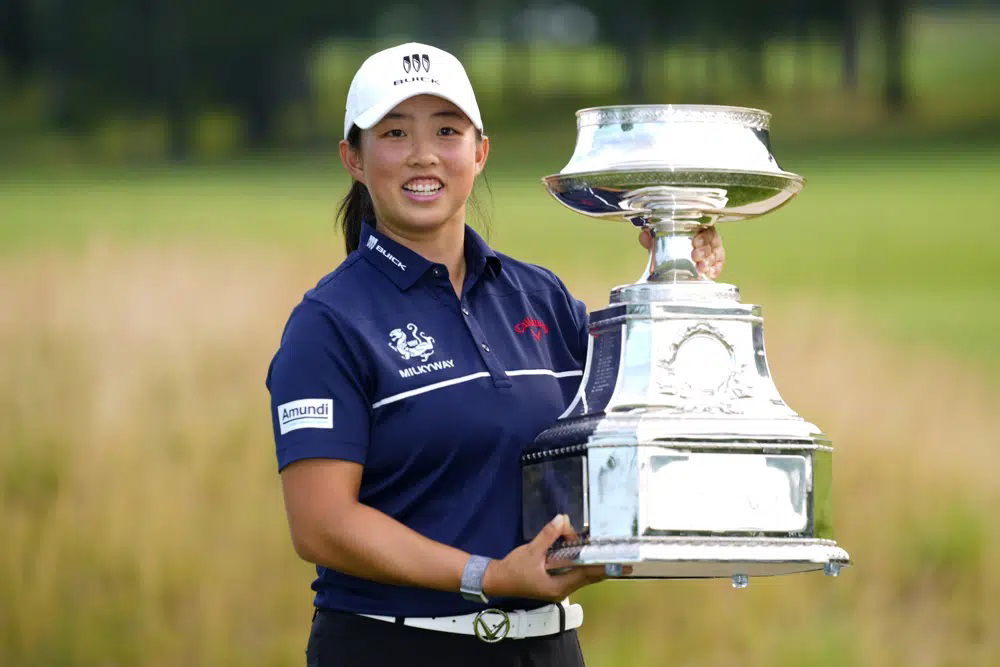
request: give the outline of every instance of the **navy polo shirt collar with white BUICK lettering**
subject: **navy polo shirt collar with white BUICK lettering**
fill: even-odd
[[[361,223],[358,251],[401,290],[412,287],[428,269],[434,266],[422,255],[396,243],[367,222]],[[490,277],[495,278],[500,275],[500,257],[468,225],[465,226],[465,264],[468,273],[482,273],[485,267]]]

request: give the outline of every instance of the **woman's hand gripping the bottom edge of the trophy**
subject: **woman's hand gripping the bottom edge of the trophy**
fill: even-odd
[[[573,591],[605,578],[603,565],[574,567],[564,574],[549,574],[547,568],[559,563],[547,562],[549,547],[559,539],[577,538],[569,517],[557,515],[538,531],[527,544],[522,544],[501,560],[493,560],[483,577],[483,592],[488,597],[518,597],[559,602]]]

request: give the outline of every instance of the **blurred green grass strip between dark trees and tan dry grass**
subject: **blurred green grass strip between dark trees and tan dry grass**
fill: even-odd
[[[494,138],[489,188],[478,188],[492,242],[552,267],[570,285],[579,276],[606,292],[633,281],[643,265],[634,234],[574,214],[545,193],[539,178],[562,164],[531,152],[544,140]],[[564,146],[546,154],[568,155],[571,140],[551,139]],[[333,220],[347,181],[335,160],[8,173],[0,180],[0,257],[79,249],[94,239],[265,244],[322,249],[318,278],[343,255]],[[872,333],[944,345],[1000,370],[1000,310],[987,307],[1000,286],[992,213],[1000,205],[1000,140],[793,154],[782,162],[806,177],[802,194],[765,218],[721,228],[724,279],[743,289],[745,301],[759,302],[762,289],[846,300],[865,311]]]

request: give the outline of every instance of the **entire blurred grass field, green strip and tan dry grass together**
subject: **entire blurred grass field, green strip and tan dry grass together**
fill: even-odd
[[[602,584],[578,596],[588,664],[997,663],[998,155],[796,156],[804,193],[723,229],[779,389],[837,447],[856,565]],[[499,249],[591,307],[638,275],[633,231],[544,193],[561,164],[508,159],[480,194]],[[263,378],[342,256],[344,185],[294,159],[0,182],[0,664],[300,664],[312,570]]]

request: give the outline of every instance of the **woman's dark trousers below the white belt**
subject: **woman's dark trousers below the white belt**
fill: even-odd
[[[313,618],[308,667],[583,667],[576,630],[488,644],[340,611]]]

